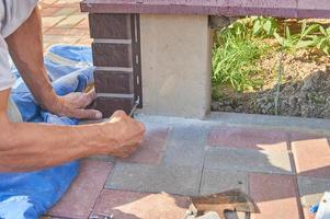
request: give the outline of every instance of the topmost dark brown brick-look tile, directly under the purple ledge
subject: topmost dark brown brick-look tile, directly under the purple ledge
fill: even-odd
[[[130,39],[129,14],[89,14],[92,38]]]

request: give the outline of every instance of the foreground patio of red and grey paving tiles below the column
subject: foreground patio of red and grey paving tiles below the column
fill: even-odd
[[[241,188],[261,210],[252,219],[312,218],[308,207],[330,189],[327,137],[179,118],[139,119],[147,126],[140,149],[126,160],[83,160],[78,178],[49,216],[181,219],[189,196]]]

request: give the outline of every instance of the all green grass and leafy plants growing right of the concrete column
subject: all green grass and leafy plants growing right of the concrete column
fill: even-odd
[[[238,20],[217,31],[213,48],[213,87],[230,85],[237,92],[260,90],[263,85],[263,70],[258,67],[258,61],[274,49],[282,49],[283,53],[318,49],[329,55],[330,27],[307,24],[306,21],[298,24],[300,32],[293,33],[285,21],[254,16]],[[264,43],[266,38],[277,42],[275,48]],[[215,91],[213,96],[218,99],[221,94]]]

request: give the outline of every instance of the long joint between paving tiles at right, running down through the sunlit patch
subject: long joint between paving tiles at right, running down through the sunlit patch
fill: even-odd
[[[294,178],[294,184],[295,184],[295,192],[296,192],[296,195],[297,195],[296,200],[297,200],[297,205],[298,205],[298,214],[299,214],[299,218],[305,219],[305,214],[304,214],[300,193],[299,193],[297,169],[296,169],[294,153],[292,151],[292,134],[289,134],[289,132],[287,134],[286,143],[287,143],[288,155],[289,155],[289,160],[291,160],[291,164],[292,164],[292,169],[293,169],[293,173],[294,173],[293,178]]]

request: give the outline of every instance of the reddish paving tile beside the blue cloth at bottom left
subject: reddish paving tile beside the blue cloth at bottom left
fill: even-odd
[[[77,180],[61,200],[50,209],[48,215],[67,218],[88,218],[112,168],[111,163],[83,160]]]

